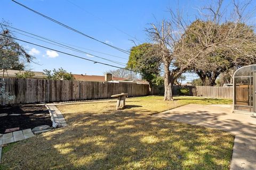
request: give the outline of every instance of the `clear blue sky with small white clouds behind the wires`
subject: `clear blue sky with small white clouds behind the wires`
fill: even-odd
[[[168,18],[168,7],[175,10],[175,8],[179,6],[185,13],[188,13],[189,18],[193,18],[193,14],[197,12],[196,8],[203,6],[206,3],[206,1],[203,0],[179,1],[179,4],[178,1],[171,0],[17,1],[47,16],[51,16],[53,19],[65,23],[70,27],[84,32],[87,35],[126,50],[129,50],[133,46],[133,43],[129,39],[134,38],[131,38],[130,36],[136,37],[141,42],[148,41],[145,28],[149,27],[149,23],[155,23],[156,21],[161,21],[164,18]],[[73,2],[75,5],[70,2]],[[228,4],[230,2],[226,1],[225,3]],[[56,23],[46,20],[42,18],[42,16],[36,15],[35,13],[30,12],[25,8],[13,3],[11,0],[1,1],[0,16],[5,21],[10,22],[13,27],[35,33],[36,35],[58,40],[63,43],[96,50],[102,53],[108,53],[124,58],[129,57],[129,55],[125,53],[119,52],[116,49],[100,44],[71,30],[63,28]],[[115,27],[128,33],[130,36],[127,36],[125,33],[117,30]],[[61,47],[56,47],[42,41],[25,37],[19,35],[18,33],[14,33],[14,35],[17,38],[62,50],[70,54],[75,54],[89,58],[91,60],[123,67],[122,65],[104,61],[99,58],[73,52],[68,49],[63,49]],[[25,46],[31,54],[35,55],[35,62],[41,64],[30,64],[30,68],[34,71],[42,71],[43,69],[52,70],[54,68],[58,69],[59,67],[63,67],[63,69],[72,73],[102,75],[102,73],[107,70],[115,69],[110,66],[100,65],[98,63],[94,64],[92,62],[87,62],[78,58],[52,52],[51,50],[47,52],[47,49],[28,45],[26,43],[21,44]],[[127,62],[125,59],[91,52],[90,50],[81,50],[108,58],[109,60],[114,60],[121,63]]]

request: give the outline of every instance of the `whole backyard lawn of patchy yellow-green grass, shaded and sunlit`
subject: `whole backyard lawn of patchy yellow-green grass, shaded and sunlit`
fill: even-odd
[[[0,169],[229,169],[234,135],[151,117],[189,103],[229,99],[163,96],[59,105],[68,126],[3,148]]]

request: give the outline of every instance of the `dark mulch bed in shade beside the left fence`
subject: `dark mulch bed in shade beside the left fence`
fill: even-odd
[[[0,133],[6,129],[19,128],[19,130],[33,129],[40,125],[52,126],[51,116],[44,105],[23,105],[0,107]],[[21,115],[11,115],[21,114]]]

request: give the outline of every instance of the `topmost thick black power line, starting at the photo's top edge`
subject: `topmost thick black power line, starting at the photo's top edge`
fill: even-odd
[[[22,7],[25,7],[27,10],[32,11],[32,12],[38,14],[38,15],[41,15],[41,16],[43,16],[44,18],[46,18],[46,19],[48,19],[48,20],[50,20],[50,21],[53,21],[53,22],[55,22],[55,23],[61,25],[62,27],[65,27],[65,28],[67,28],[67,29],[70,29],[70,30],[72,30],[72,31],[74,31],[74,32],[77,32],[77,33],[79,33],[79,34],[81,34],[81,35],[83,35],[83,36],[85,36],[85,37],[91,38],[91,39],[93,39],[93,40],[95,40],[95,41],[98,41],[99,43],[105,44],[105,45],[107,45],[107,46],[109,46],[109,47],[115,48],[115,49],[117,49],[117,50],[119,50],[120,52],[123,52],[123,53],[125,53],[125,54],[130,54],[130,52],[127,51],[127,50],[124,50],[124,49],[118,48],[118,47],[116,47],[116,46],[107,44],[107,43],[105,43],[105,42],[103,42],[103,41],[101,41],[101,40],[98,40],[98,39],[93,38],[93,37],[91,37],[91,36],[89,36],[89,35],[86,35],[85,33],[81,32],[81,31],[78,31],[78,30],[76,30],[76,29],[74,29],[74,28],[71,28],[71,27],[69,27],[68,25],[63,24],[63,23],[61,23],[61,22],[59,22],[59,21],[57,21],[57,20],[54,20],[53,18],[51,18],[51,17],[49,17],[49,16],[46,16],[46,15],[44,15],[44,14],[42,14],[42,13],[39,13],[39,12],[37,12],[37,11],[35,11],[35,10],[33,10],[33,9],[27,7],[26,5],[23,5],[23,4],[21,4],[21,3],[17,2],[17,1],[12,0],[12,2],[14,2],[14,3],[16,3],[16,4],[18,4],[18,5],[22,6]]]

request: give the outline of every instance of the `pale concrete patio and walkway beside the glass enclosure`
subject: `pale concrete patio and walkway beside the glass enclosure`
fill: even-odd
[[[231,110],[231,105],[190,104],[153,116],[235,134],[230,169],[256,169],[256,118]]]

